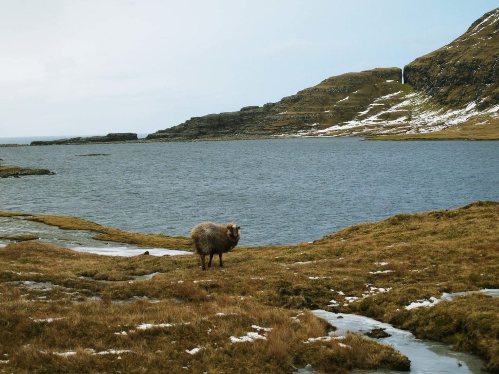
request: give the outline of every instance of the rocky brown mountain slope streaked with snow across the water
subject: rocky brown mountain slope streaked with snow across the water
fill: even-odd
[[[399,68],[346,73],[276,103],[193,117],[147,139],[499,139],[498,47],[499,8],[451,43],[406,65],[404,83]]]

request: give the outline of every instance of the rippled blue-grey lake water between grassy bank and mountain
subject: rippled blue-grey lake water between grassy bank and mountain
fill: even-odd
[[[109,154],[108,156],[79,156]],[[0,148],[0,210],[188,236],[234,221],[241,245],[311,241],[400,212],[499,200],[499,142],[305,138]]]

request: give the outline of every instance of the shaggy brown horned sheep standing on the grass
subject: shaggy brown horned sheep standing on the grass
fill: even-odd
[[[195,226],[191,231],[194,248],[201,257],[201,267],[206,270],[205,256],[210,255],[208,267],[212,266],[212,259],[215,253],[220,257],[220,267],[222,265],[222,253],[229,252],[238,245],[241,234],[241,226],[235,223],[221,225],[213,222],[203,222]]]

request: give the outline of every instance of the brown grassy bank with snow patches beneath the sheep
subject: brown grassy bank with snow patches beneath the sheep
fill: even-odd
[[[61,228],[88,224],[85,229],[113,234],[74,217],[41,217],[36,220]],[[472,294],[405,309],[443,292],[499,288],[498,243],[497,202],[398,214],[313,243],[236,247],[224,256],[224,268],[206,272],[195,255],[106,257],[36,241],[10,243],[0,248],[0,360],[8,361],[0,370],[291,373],[311,364],[342,373],[406,367],[404,357],[358,335],[310,342],[334,330],[308,312],[323,308],[453,343],[486,358],[487,370],[498,373],[498,299]],[[136,279],[155,272],[152,279]],[[333,299],[337,306],[328,306]],[[248,333],[261,338],[231,340]],[[195,348],[199,352],[186,352]],[[74,354],[58,355],[64,352]]]

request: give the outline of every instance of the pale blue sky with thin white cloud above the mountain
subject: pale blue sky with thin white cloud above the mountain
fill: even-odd
[[[152,133],[403,66],[497,0],[0,0],[0,137]]]

